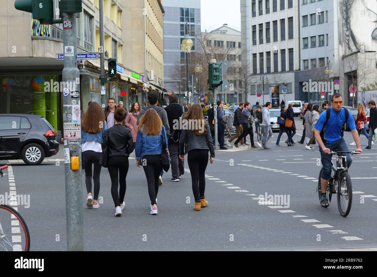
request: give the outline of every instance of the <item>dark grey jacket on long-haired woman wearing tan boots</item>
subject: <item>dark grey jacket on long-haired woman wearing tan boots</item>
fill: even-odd
[[[215,158],[215,148],[212,144],[212,136],[209,124],[207,124],[207,134],[195,135],[194,132],[187,130],[186,123],[182,126],[181,136],[179,137],[179,155],[185,154],[185,144],[187,145],[186,153],[193,149],[210,150],[211,158]],[[187,132],[189,131],[189,132]]]

